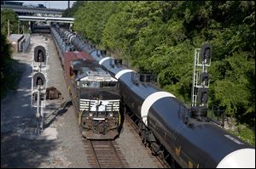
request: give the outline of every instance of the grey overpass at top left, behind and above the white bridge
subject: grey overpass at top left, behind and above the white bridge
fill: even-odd
[[[13,9],[15,13],[18,14],[39,14],[39,15],[46,15],[46,16],[58,16],[61,17],[62,13],[64,12],[63,9],[58,8],[30,8],[26,6],[17,6],[17,5],[1,5],[1,10],[3,8]]]

